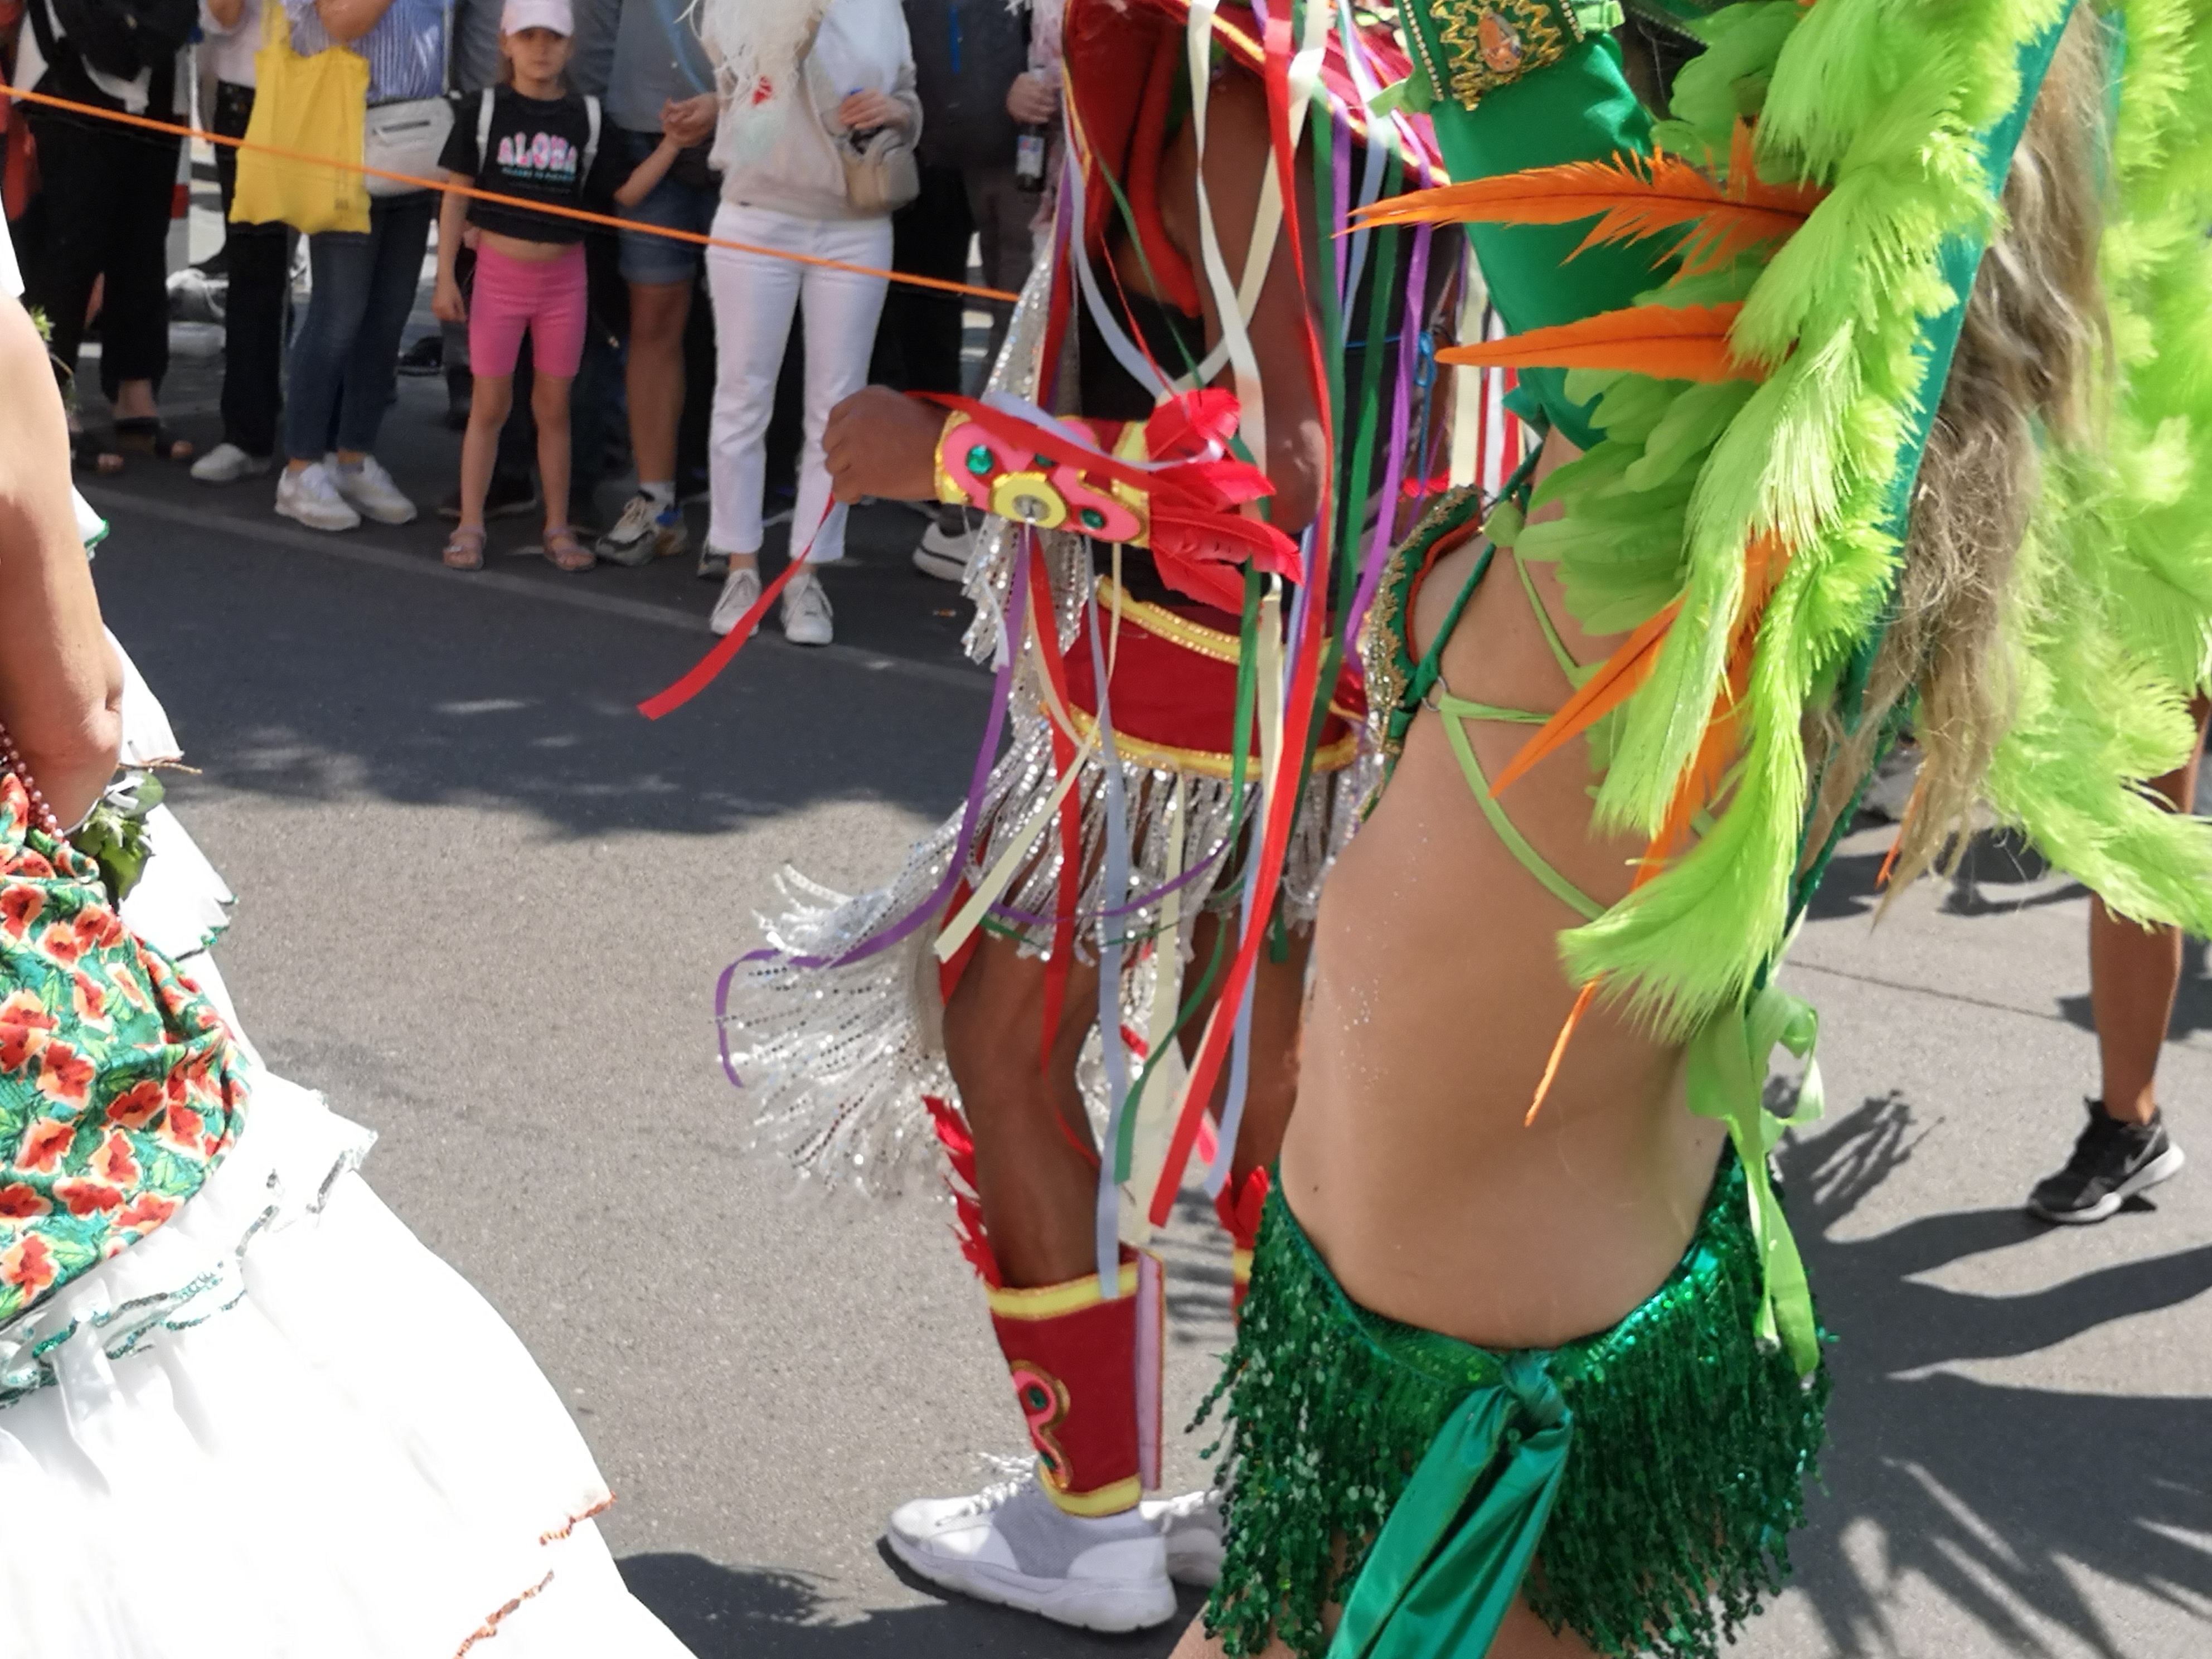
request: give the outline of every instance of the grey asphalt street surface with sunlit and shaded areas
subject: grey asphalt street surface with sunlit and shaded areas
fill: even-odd
[[[451,487],[431,411],[411,383],[385,445],[422,500]],[[958,801],[987,684],[953,588],[905,564],[918,520],[860,515],[836,648],[763,630],[646,723],[633,703],[710,644],[688,568],[462,577],[431,524],[330,538],[268,500],[144,458],[97,491],[102,604],[201,768],[173,803],[241,894],[219,960],[268,1060],[380,1133],[374,1186],[575,1409],[635,1590],[701,1659],[1164,1655],[1172,1630],[1086,1639],[894,1571],[896,1502],[1022,1444],[973,1279],[940,1201],[794,1192],[714,1060],[712,982],[776,867],[867,885]],[[1834,1444],[1796,1582],[1739,1652],[2203,1655],[2203,951],[2163,1071],[2203,1166],[2039,1228],[2020,1199],[2095,1088],[2086,898],[1989,845],[1869,927],[1885,847],[1851,836],[1787,975],[1823,1011],[1829,1115],[1783,1166],[1838,1332]],[[1228,1336],[1197,1206],[1170,1256],[1179,1420]],[[1177,1484],[1203,1442],[1172,1447]]]

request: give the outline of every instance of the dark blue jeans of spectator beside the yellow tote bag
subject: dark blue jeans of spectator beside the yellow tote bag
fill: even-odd
[[[292,341],[283,420],[283,449],[292,460],[321,460],[325,449],[376,449],[436,208],[434,190],[374,197],[367,234],[325,230],[307,237],[314,292]]]

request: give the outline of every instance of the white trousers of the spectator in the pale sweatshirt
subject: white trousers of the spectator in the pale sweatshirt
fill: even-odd
[[[768,208],[723,201],[714,234],[779,248],[814,259],[887,270],[891,221],[794,219]],[[867,385],[867,358],[883,314],[883,276],[801,265],[770,254],[706,250],[714,294],[714,425],[708,438],[708,476],[714,513],[706,540],[723,553],[761,551],[761,489],[768,478],[768,418],[776,407],[776,372],[792,332],[792,307],[807,319],[807,422],[799,451],[799,504],[792,511],[792,551],[814,533],[812,564],[845,557],[845,509],[830,502],[823,465],[823,427],[830,411]],[[823,513],[827,511],[827,518]],[[814,526],[821,524],[821,531]]]

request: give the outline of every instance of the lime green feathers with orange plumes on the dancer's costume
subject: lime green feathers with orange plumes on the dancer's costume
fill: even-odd
[[[2004,613],[2017,708],[1984,783],[2002,821],[2115,909],[2197,931],[2212,931],[2212,834],[2141,781],[2183,759],[2185,699],[2212,672],[2208,9],[2108,13],[2124,35],[2101,246],[2119,389],[2106,447],[2044,467]],[[1528,754],[1617,723],[1597,821],[1650,836],[1652,858],[1562,951],[1573,980],[1666,1035],[1739,1006],[1805,898],[1803,726],[1849,706],[1893,602],[1964,301],[2068,13],[1732,4],[1697,27],[1708,51],[1677,80],[1657,157],[1374,210],[1597,217],[1588,243],[1681,228],[1674,274],[1637,307],[1444,354],[1568,367],[1571,396],[1599,398],[1601,442],[1537,498],[1564,515],[1515,546],[1559,562],[1586,628],[1635,633]]]

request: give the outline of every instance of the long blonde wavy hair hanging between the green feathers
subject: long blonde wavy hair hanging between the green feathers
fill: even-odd
[[[1820,779],[1807,836],[1814,856],[1851,805],[1891,712],[1918,695],[1920,781],[1900,827],[1891,896],[1966,847],[1982,776],[2013,717],[2004,593],[2031,531],[2044,451],[2099,442],[2110,383],[2097,283],[2104,131],[2104,51],[2095,15],[2077,7],[2013,150],[2004,228],[1966,301],[1913,484],[1865,714],[1849,734],[1834,710],[1807,719],[1805,754]]]

